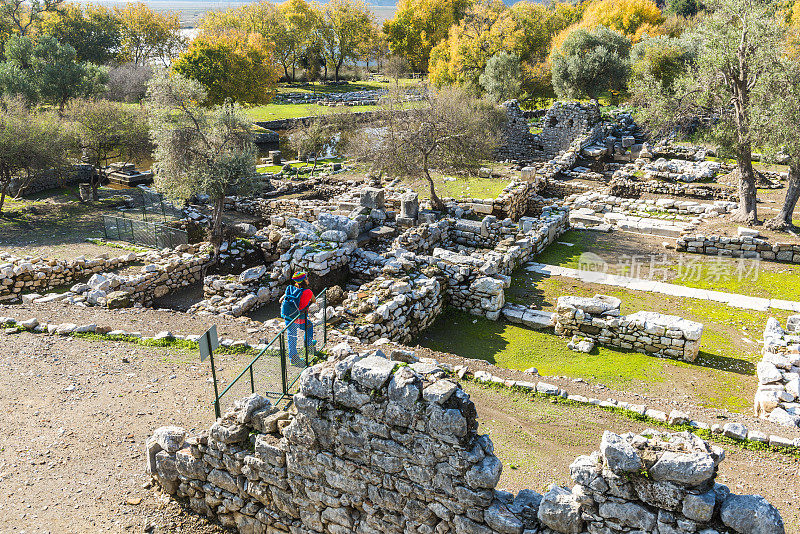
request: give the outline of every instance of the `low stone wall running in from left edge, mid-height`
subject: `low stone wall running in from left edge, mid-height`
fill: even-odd
[[[23,293],[38,293],[70,284],[95,273],[118,269],[137,259],[135,253],[114,258],[102,255],[91,260],[83,256],[72,260],[20,258],[0,253],[0,301],[17,299]]]

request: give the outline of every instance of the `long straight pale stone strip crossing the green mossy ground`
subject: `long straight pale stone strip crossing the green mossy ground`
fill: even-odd
[[[618,274],[608,274],[601,271],[588,271],[561,267],[558,265],[546,265],[543,263],[528,263],[525,270],[529,272],[544,274],[547,276],[564,276],[574,278],[581,282],[592,284],[604,284],[615,287],[624,287],[635,291],[650,291],[652,293],[662,293],[675,297],[686,297],[701,300],[711,300],[722,302],[735,308],[747,310],[767,311],[772,308],[775,310],[788,310],[800,312],[800,302],[781,299],[765,299],[761,297],[750,297],[737,293],[725,293],[723,291],[709,291],[695,287],[681,286],[678,284],[668,284],[658,280],[645,280],[642,278],[631,278]]]

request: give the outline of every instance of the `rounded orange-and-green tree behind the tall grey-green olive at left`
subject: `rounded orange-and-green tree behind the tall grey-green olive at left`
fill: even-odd
[[[210,105],[227,99],[266,104],[275,95],[278,81],[271,50],[257,33],[199,37],[178,57],[172,69],[202,84]]]

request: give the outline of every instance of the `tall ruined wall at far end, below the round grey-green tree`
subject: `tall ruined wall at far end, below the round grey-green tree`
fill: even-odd
[[[576,138],[591,131],[599,122],[597,103],[554,103],[545,113],[539,134],[544,152],[552,157],[567,150]]]

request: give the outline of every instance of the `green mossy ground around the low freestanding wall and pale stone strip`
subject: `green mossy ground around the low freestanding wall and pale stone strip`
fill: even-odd
[[[588,233],[570,232],[560,240],[574,243],[574,246],[554,244],[538,261],[577,267],[580,253],[590,250],[590,246],[596,247],[591,252],[602,254],[604,251],[597,247],[598,243],[588,242],[589,239]],[[704,268],[710,269],[707,265]],[[709,289],[794,298],[794,295],[800,297],[798,285],[794,270],[790,273],[779,270],[762,272],[756,282],[727,286],[709,284]],[[569,350],[566,340],[556,336],[552,329],[532,330],[502,320],[489,321],[453,308],[442,314],[420,337],[419,343],[510,369],[535,367],[545,376],[584,378],[615,389],[633,388],[662,397],[685,396],[706,406],[747,411],[752,407],[757,386],[755,364],[760,359],[759,341],[764,324],[770,316],[785,322],[789,315],[789,312],[751,311],[699,299],[543,277],[522,269],[512,276],[506,300],[552,311],[559,296],[590,297],[598,293],[620,298],[623,314],[647,310],[702,323],[704,331],[697,360],[688,363],[606,347],[581,354]],[[454,332],[458,335],[453,335]]]

